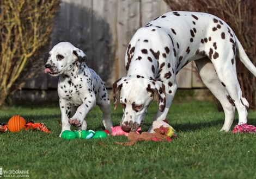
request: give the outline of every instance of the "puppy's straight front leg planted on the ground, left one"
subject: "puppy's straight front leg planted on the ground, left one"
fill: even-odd
[[[59,99],[59,107],[60,107],[60,111],[62,112],[62,132],[65,130],[70,131],[69,118],[70,118],[71,104],[69,103],[68,100]],[[59,137],[62,135],[62,132],[60,133]]]

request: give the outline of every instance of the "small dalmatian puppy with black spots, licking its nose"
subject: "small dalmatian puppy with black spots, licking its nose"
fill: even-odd
[[[45,73],[59,76],[58,95],[62,113],[62,132],[70,130],[70,124],[78,130],[86,130],[84,118],[98,105],[103,113],[106,130],[112,131],[111,103],[101,78],[85,64],[87,56],[69,42],[60,42],[49,52]],[[70,112],[72,111],[72,118]],[[61,135],[61,133],[60,133]]]

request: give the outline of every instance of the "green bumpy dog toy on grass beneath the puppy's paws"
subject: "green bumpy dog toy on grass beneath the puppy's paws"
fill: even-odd
[[[106,138],[108,135],[108,131],[93,131],[93,130],[78,130],[78,131],[63,131],[62,138],[66,140],[71,139],[97,139],[97,138]]]

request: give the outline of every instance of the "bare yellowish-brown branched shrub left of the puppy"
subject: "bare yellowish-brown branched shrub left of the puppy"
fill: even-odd
[[[0,106],[35,75],[59,0],[0,0]],[[29,71],[29,73],[27,73]]]

